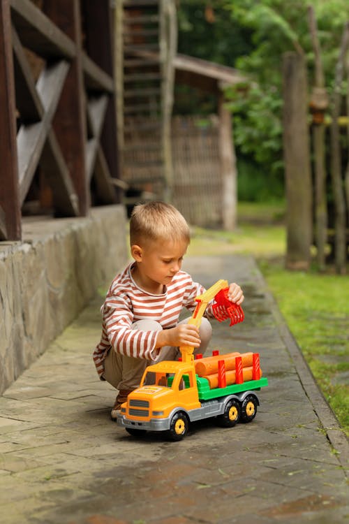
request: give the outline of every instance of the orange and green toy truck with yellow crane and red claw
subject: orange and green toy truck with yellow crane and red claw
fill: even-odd
[[[199,326],[212,298],[219,321],[230,317],[232,325],[244,319],[242,309],[228,300],[228,282],[220,280],[197,297],[189,320]],[[117,423],[128,433],[140,436],[163,431],[172,440],[181,440],[190,422],[215,417],[224,427],[251,422],[257,413],[256,391],[267,386],[262,377],[259,354],[237,352],[193,358],[193,347],[181,347],[180,361],[149,365],[140,387],[121,405]]]

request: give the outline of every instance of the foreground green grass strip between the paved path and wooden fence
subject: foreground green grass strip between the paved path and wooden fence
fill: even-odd
[[[288,272],[267,261],[260,268],[322,393],[349,434],[348,277]]]

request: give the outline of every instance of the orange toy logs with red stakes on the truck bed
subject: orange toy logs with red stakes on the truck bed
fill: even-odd
[[[219,355],[218,351],[214,351],[212,356],[199,356],[194,364],[195,372],[199,377],[207,379],[211,389],[225,388],[230,384],[242,384],[262,377],[258,353],[235,352]]]

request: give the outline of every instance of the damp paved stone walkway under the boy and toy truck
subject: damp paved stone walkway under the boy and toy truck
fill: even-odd
[[[244,323],[214,322],[211,349],[260,351],[269,386],[250,424],[196,423],[181,442],[135,439],[91,350],[94,300],[0,398],[1,524],[342,523],[348,441],[253,259],[187,259],[202,284],[244,286]]]

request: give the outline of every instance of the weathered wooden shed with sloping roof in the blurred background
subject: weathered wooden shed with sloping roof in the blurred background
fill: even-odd
[[[246,78],[236,69],[183,54],[173,64],[176,84],[213,94],[218,108],[206,126],[200,115],[173,119],[174,204],[192,224],[232,230],[237,223],[237,168],[224,90],[246,83]]]

